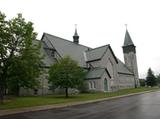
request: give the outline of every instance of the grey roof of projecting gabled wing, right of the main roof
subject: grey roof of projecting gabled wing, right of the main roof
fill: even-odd
[[[105,45],[86,51],[87,61],[94,61],[101,59],[107,49],[108,45]]]

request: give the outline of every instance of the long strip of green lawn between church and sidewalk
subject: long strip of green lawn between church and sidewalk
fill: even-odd
[[[110,93],[84,93],[78,95],[71,95],[65,98],[64,95],[46,95],[46,96],[29,96],[29,97],[10,97],[4,104],[0,104],[0,110],[22,108],[49,104],[66,104],[87,100],[95,100],[107,97],[114,97],[120,95],[126,95],[131,93],[144,92],[149,90],[159,90],[155,88],[136,88],[136,89],[123,89],[117,92]]]

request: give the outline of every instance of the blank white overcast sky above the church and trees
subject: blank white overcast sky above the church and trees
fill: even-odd
[[[136,45],[141,78],[149,67],[160,73],[159,0],[0,0],[7,18],[22,13],[34,23],[38,39],[43,32],[73,40],[77,24],[80,44],[92,48],[110,44],[123,61],[125,24]]]

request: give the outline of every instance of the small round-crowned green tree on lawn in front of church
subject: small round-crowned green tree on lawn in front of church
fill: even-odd
[[[69,56],[60,59],[49,70],[49,82],[57,88],[65,88],[68,97],[68,88],[78,88],[83,85],[85,71]]]

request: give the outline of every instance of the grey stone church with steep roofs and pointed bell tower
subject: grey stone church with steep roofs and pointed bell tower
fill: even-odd
[[[42,45],[43,68],[46,71],[39,78],[41,88],[38,89],[38,94],[47,94],[50,91],[47,71],[64,56],[70,56],[80,67],[87,69],[85,82],[88,91],[112,92],[139,86],[136,46],[127,29],[122,47],[125,63],[115,56],[109,44],[97,48],[79,44],[77,29],[73,41],[44,33],[41,40],[36,42]]]

